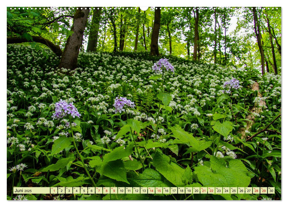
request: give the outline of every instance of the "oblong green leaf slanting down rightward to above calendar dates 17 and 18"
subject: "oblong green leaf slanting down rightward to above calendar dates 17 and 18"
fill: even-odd
[[[182,175],[185,170],[174,162],[170,162],[170,158],[157,150],[153,157],[153,164],[157,171],[160,172],[167,180],[177,187],[184,186]]]

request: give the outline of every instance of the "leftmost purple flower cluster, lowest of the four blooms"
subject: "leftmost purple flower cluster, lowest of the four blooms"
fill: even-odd
[[[60,101],[55,104],[55,113],[53,114],[52,118],[53,120],[61,119],[68,115],[71,115],[73,118],[81,116],[76,107],[73,105],[73,102],[68,104],[66,101],[62,101],[62,99],[60,99]]]

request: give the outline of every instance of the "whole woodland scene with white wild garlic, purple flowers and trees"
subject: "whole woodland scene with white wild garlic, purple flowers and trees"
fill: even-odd
[[[281,7],[7,7],[7,200],[281,200]]]

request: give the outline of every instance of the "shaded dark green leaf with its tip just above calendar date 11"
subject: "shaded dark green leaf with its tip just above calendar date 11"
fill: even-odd
[[[103,174],[117,181],[122,181],[130,184],[127,180],[126,169],[121,160],[114,160],[104,163],[101,167],[100,174]]]

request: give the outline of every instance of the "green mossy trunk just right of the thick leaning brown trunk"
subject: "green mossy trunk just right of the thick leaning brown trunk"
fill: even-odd
[[[98,32],[101,20],[102,7],[93,10],[93,17],[87,44],[87,52],[96,52],[98,43]]]

